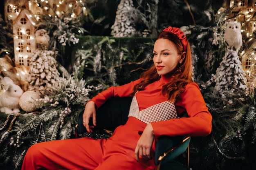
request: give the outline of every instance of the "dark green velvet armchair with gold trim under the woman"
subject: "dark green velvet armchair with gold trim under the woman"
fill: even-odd
[[[99,109],[97,109],[97,129],[107,129],[114,131],[119,125],[126,123],[132,97],[114,97],[108,99]],[[79,114],[76,125],[76,136],[86,132],[83,126],[83,110]],[[155,164],[157,170],[189,170],[189,141],[190,137],[159,137],[156,144]],[[187,167],[174,160],[187,150]]]

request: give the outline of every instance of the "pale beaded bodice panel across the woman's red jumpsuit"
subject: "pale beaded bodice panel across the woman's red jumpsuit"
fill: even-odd
[[[128,117],[135,117],[145,124],[150,124],[154,121],[164,121],[168,119],[178,118],[175,105],[173,102],[165,101],[155,104],[144,110],[139,111],[139,105],[136,99],[136,94],[132,98]]]

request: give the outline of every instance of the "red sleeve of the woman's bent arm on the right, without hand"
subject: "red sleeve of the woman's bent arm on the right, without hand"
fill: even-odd
[[[207,136],[211,133],[212,116],[204,102],[197,84],[190,83],[175,101],[178,115],[186,112],[189,117],[152,122],[155,137],[167,136]]]

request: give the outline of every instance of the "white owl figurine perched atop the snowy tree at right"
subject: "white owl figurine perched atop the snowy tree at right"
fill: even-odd
[[[240,22],[229,22],[227,23],[224,39],[227,42],[228,46],[233,49],[236,49],[238,53],[240,47],[242,46],[242,34],[241,34],[241,24]]]

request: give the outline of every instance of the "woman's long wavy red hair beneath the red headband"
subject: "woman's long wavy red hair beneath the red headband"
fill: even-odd
[[[161,38],[173,42],[178,54],[182,55],[185,51],[181,40],[175,34],[169,31],[162,31],[157,36],[157,40]],[[177,65],[176,71],[162,88],[162,94],[166,94],[166,98],[171,102],[174,102],[175,98],[185,90],[184,86],[186,84],[193,82],[191,50],[188,40],[186,42],[187,49],[183,62]],[[157,74],[155,65],[151,66],[146,72],[141,74],[141,82],[134,87],[132,94],[134,95],[137,91],[142,91],[148,84],[157,81],[159,78],[160,75]]]

